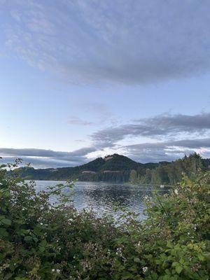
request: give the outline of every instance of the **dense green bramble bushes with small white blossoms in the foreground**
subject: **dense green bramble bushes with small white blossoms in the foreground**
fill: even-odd
[[[207,280],[209,186],[208,172],[186,177],[170,195],[146,199],[146,221],[125,214],[116,225],[78,213],[62,185],[36,193],[34,183],[1,167],[0,279]],[[50,204],[50,195],[59,203]]]

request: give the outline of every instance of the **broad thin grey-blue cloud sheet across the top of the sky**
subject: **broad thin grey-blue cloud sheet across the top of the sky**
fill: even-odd
[[[6,47],[71,83],[133,85],[209,71],[209,1],[8,0],[1,6],[14,20],[1,24]]]

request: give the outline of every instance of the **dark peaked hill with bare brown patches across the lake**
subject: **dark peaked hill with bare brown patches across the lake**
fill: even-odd
[[[48,169],[34,169],[33,167],[21,167],[15,169],[20,176],[31,180],[73,180],[80,181],[129,181],[132,169],[141,172],[147,168],[153,169],[158,164],[142,164],[135,162],[124,155],[108,155],[105,158],[97,158],[85,165],[77,167],[62,167]]]

